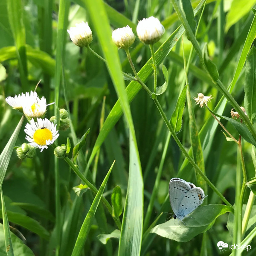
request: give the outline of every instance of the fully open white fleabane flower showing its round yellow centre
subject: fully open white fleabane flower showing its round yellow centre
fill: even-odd
[[[44,148],[48,148],[48,145],[54,143],[59,136],[56,125],[47,118],[38,118],[37,122],[31,119],[30,124],[25,125],[24,131],[27,134],[26,140],[29,144],[35,148],[41,148],[41,152]]]

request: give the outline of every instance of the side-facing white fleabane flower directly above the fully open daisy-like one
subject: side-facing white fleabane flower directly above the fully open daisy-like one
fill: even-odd
[[[47,105],[44,96],[41,99],[37,97],[34,102],[24,103],[23,113],[29,120],[36,117],[44,117],[46,107],[52,104],[54,102]]]

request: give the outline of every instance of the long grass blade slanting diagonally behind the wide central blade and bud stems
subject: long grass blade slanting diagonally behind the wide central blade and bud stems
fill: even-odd
[[[198,4],[198,6],[195,8],[194,10],[195,15],[199,12],[203,4],[204,4],[204,1],[201,1]],[[164,60],[164,58],[166,58],[169,52],[171,52],[172,48],[177,44],[178,39],[180,39],[184,31],[185,29],[183,26],[178,27],[175,30],[175,32],[173,32],[172,35],[170,35],[169,38],[163,43],[163,45],[155,52],[157,65],[159,65]],[[152,60],[150,58],[138,73],[140,79],[143,82],[145,82],[148,79],[148,77],[151,76],[151,74],[153,73],[151,62]],[[134,97],[137,95],[140,89],[141,89],[140,84],[138,84],[136,81],[131,81],[131,83],[126,88],[126,93],[127,93],[129,102],[131,102],[134,99]],[[121,116],[122,116],[122,108],[120,105],[120,100],[118,100],[116,104],[113,106],[108,117],[106,118],[104,125],[99,133],[99,136],[97,137],[96,143],[93,147],[93,151],[88,160],[86,169],[89,168],[96,152],[99,150],[100,146],[102,145],[105,138],[107,137],[109,131],[113,128],[113,126],[116,124],[116,122],[119,120]]]

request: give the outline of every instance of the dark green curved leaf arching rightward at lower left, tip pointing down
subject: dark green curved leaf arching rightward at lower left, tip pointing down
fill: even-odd
[[[2,215],[2,210],[0,210],[0,212]],[[21,227],[25,227],[26,229],[32,231],[35,234],[38,234],[38,236],[41,236],[46,240],[49,239],[49,232],[43,226],[41,226],[38,221],[35,221],[29,216],[20,214],[18,212],[7,211],[7,215],[9,221],[12,221]]]

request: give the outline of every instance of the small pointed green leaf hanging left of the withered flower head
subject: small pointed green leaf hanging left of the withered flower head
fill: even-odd
[[[182,126],[182,115],[183,115],[185,102],[186,102],[186,89],[187,89],[187,85],[185,85],[182,92],[180,93],[175,110],[173,111],[172,117],[170,120],[172,127],[174,128],[174,131],[176,133],[180,131]]]

